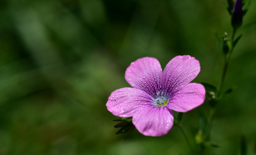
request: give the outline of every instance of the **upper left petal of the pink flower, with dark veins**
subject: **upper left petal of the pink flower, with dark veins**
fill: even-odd
[[[131,63],[125,71],[125,79],[137,89],[146,91],[151,96],[161,89],[163,74],[159,61],[155,58],[140,58]]]

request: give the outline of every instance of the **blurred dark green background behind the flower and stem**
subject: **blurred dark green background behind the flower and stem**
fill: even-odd
[[[207,154],[248,153],[256,138],[256,3],[232,55]],[[162,68],[176,55],[200,61],[194,82],[218,84],[223,58],[214,33],[231,34],[222,1],[6,0],[0,1],[0,154],[188,154],[180,131],[146,137],[115,135],[106,108],[112,91],[130,87],[126,68],[143,56]],[[183,126],[198,127],[198,112]],[[176,113],[175,113],[176,115]]]

